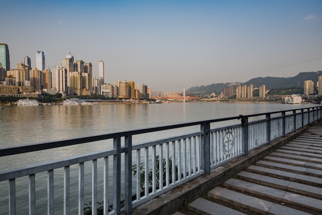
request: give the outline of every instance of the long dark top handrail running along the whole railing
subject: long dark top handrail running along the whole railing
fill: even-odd
[[[122,132],[102,134],[102,135],[84,136],[84,137],[73,138],[73,139],[41,142],[41,143],[36,143],[36,144],[24,145],[24,146],[6,147],[6,148],[0,148],[0,157],[14,155],[14,154],[27,153],[27,152],[41,151],[41,150],[46,150],[46,149],[54,149],[54,148],[66,147],[66,146],[72,146],[72,145],[78,145],[78,144],[85,144],[86,142],[94,142],[94,141],[113,139],[113,138],[124,137],[124,136],[132,136],[132,135],[138,135],[138,134],[144,134],[144,133],[150,133],[150,132],[178,129],[178,128],[184,128],[184,127],[190,127],[190,126],[198,126],[201,124],[212,123],[212,122],[221,122],[221,121],[228,121],[228,120],[234,120],[234,119],[241,119],[244,117],[245,118],[256,117],[256,116],[277,114],[277,113],[281,113],[281,112],[290,112],[290,111],[298,111],[298,110],[303,111],[303,110],[310,110],[310,109],[314,109],[314,108],[321,108],[321,106],[314,106],[314,107],[302,108],[302,109],[291,109],[291,110],[285,110],[285,111],[275,111],[275,112],[252,114],[252,115],[243,115],[243,116],[239,115],[239,116],[227,117],[227,118],[209,119],[209,120],[203,120],[203,121],[172,124],[169,126],[162,126],[162,127],[153,127],[153,128],[129,130],[129,131],[122,131]]]

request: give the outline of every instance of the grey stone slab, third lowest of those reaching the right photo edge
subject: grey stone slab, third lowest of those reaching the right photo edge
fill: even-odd
[[[315,187],[322,187],[322,180],[319,177],[313,177],[310,175],[298,174],[293,172],[287,172],[277,169],[271,169],[267,167],[260,167],[251,165],[247,168],[247,171],[258,173],[262,175],[272,176],[284,180],[289,180],[292,182],[303,183]]]

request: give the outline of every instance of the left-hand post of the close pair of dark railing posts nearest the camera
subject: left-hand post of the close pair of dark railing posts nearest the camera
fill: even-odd
[[[113,155],[113,210],[121,213],[121,137],[113,139],[113,148],[117,154]],[[94,203],[93,203],[94,204]]]

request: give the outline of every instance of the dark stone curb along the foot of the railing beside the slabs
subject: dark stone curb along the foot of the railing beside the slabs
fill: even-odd
[[[248,156],[241,156],[211,170],[210,174],[205,177],[199,176],[194,178],[194,180],[178,186],[172,191],[160,195],[158,198],[133,208],[133,214],[172,214],[197,199],[204,192],[220,185],[232,175],[237,174],[239,171],[305,133],[309,127],[310,125],[280,137],[272,141],[270,145],[264,145],[249,152]]]

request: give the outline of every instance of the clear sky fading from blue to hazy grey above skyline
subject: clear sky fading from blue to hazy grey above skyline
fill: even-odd
[[[182,92],[211,83],[322,70],[322,1],[1,0],[10,67],[104,61],[105,82]]]

